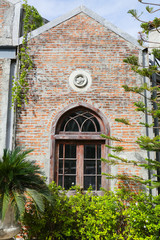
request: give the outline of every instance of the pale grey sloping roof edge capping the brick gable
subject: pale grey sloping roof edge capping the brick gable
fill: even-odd
[[[19,1],[19,0],[15,0],[15,1]],[[31,33],[29,33],[29,39],[32,39],[36,36],[38,36],[39,34],[43,33],[44,31],[49,30],[52,27],[55,27],[59,24],[61,24],[62,22],[65,22],[66,20],[76,16],[79,13],[85,13],[86,15],[88,15],[89,17],[93,18],[95,21],[99,22],[100,24],[102,24],[104,27],[110,29],[111,31],[113,31],[114,33],[116,33],[117,35],[119,35],[120,37],[122,37],[124,40],[130,42],[131,44],[135,45],[137,48],[143,50],[144,48],[141,47],[137,40],[132,37],[131,35],[129,35],[128,33],[122,31],[121,29],[119,29],[118,27],[116,27],[114,24],[110,23],[109,21],[107,21],[105,18],[99,16],[97,13],[93,12],[92,10],[86,8],[85,6],[80,6],[72,11],[70,11],[67,14],[64,14],[54,20],[52,20],[51,22],[43,25],[42,27],[39,27],[37,29],[35,29],[34,31],[32,31]],[[22,40],[23,37],[19,38],[19,44],[22,44]]]

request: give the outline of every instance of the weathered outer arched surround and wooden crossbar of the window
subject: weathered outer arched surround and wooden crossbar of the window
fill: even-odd
[[[69,115],[72,111],[77,110],[88,110],[92,114],[95,115],[97,118],[101,132],[63,132],[60,131],[60,126],[63,121],[63,119]],[[74,142],[81,144],[86,143],[101,143],[102,145],[102,156],[103,158],[106,158],[108,155],[108,148],[105,147],[105,144],[109,144],[109,141],[107,139],[104,140],[100,136],[101,133],[109,134],[109,123],[107,122],[107,119],[105,116],[97,109],[93,108],[89,104],[84,103],[78,103],[78,104],[71,104],[68,107],[64,108],[54,120],[52,124],[52,133],[51,133],[51,141],[52,141],[52,147],[51,147],[51,156],[50,156],[50,182],[55,179],[55,161],[57,159],[57,144],[60,142]],[[110,167],[102,162],[102,172],[108,172],[110,173]],[[80,184],[82,185],[82,184]],[[83,187],[83,186],[82,186]],[[110,189],[110,180],[106,179],[104,175],[102,175],[102,187],[106,189]]]

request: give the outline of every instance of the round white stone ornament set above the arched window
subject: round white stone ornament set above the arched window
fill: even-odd
[[[92,78],[88,72],[84,70],[76,70],[71,73],[69,84],[78,92],[86,91],[92,84]]]

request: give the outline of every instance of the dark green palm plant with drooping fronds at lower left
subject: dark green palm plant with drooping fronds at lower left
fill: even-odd
[[[14,209],[16,220],[21,219],[27,202],[32,202],[37,211],[44,210],[44,197],[49,196],[48,187],[42,178],[43,172],[35,161],[27,160],[32,150],[17,147],[5,149],[0,159],[0,219],[3,221],[8,209]]]

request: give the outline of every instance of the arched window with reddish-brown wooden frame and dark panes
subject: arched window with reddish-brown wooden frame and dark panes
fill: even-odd
[[[68,111],[56,127],[56,161],[54,180],[69,189],[80,185],[84,190],[92,186],[100,190],[102,183],[105,141],[102,119],[87,108]]]

